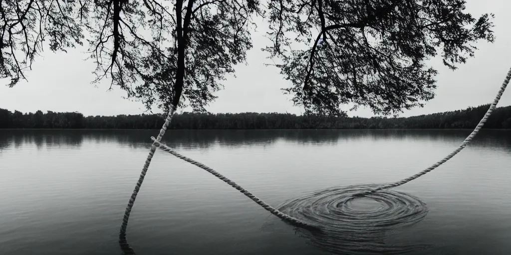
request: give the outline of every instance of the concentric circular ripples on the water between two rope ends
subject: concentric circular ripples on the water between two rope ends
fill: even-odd
[[[428,209],[419,198],[403,192],[380,190],[379,185],[355,185],[321,190],[288,200],[279,210],[321,228],[299,230],[310,242],[334,254],[405,254],[425,245],[389,245],[385,238],[403,226],[423,220]]]

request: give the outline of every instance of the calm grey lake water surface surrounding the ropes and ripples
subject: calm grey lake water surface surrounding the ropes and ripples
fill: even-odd
[[[484,130],[451,161],[379,201],[352,201],[350,214],[331,211],[349,186],[403,179],[443,158],[469,133],[171,131],[165,142],[185,156],[270,205],[288,201],[284,209],[297,215],[304,214],[299,206],[309,206],[315,211],[304,215],[342,231],[321,236],[296,230],[213,175],[158,151],[127,238],[138,255],[365,254],[375,247],[408,254],[508,254],[511,131]],[[0,130],[0,254],[120,254],[124,209],[155,135]],[[408,207],[396,205],[398,198]],[[332,220],[338,217],[345,224]],[[385,233],[360,232],[360,224],[384,227]],[[353,249],[357,240],[369,239],[372,246]]]

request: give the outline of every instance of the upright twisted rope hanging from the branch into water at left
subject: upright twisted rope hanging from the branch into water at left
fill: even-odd
[[[131,213],[131,209],[133,208],[133,203],[135,203],[136,195],[138,191],[140,191],[140,187],[142,186],[142,182],[144,182],[144,177],[146,176],[147,169],[149,168],[149,164],[151,163],[151,159],[154,156],[154,152],[156,151],[156,143],[161,140],[161,138],[165,135],[165,131],[167,131],[167,127],[170,125],[172,120],[172,116],[176,112],[176,107],[171,106],[169,109],[169,114],[167,115],[167,119],[165,119],[165,123],[161,127],[160,133],[158,137],[155,139],[155,142],[151,145],[151,150],[149,151],[149,155],[147,155],[146,163],[142,168],[142,172],[140,173],[140,177],[138,177],[138,182],[136,182],[135,189],[133,190],[133,194],[128,201],[128,205],[126,206],[126,211],[124,212],[123,224],[121,225],[121,231],[119,233],[119,243],[121,244],[121,249],[125,254],[134,254],[133,250],[129,247],[126,242],[126,228],[128,227],[129,215]],[[159,144],[159,143],[158,143]]]

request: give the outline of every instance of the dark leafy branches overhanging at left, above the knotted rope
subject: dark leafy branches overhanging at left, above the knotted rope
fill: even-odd
[[[254,0],[2,1],[0,77],[25,79],[50,43],[52,51],[89,44],[95,82],[120,86],[148,109],[168,104],[204,111],[234,65],[252,47]],[[87,36],[85,36],[87,35]],[[182,98],[181,98],[182,96]],[[181,99],[181,100],[180,100]]]

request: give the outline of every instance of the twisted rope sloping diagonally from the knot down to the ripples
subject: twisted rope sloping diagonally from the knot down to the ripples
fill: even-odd
[[[188,157],[185,157],[181,154],[179,154],[178,152],[176,152],[173,148],[165,145],[165,144],[161,144],[160,142],[158,142],[156,140],[156,138],[154,137],[151,137],[151,140],[153,140],[153,144],[156,144],[156,146],[159,146],[160,149],[162,150],[165,150],[167,152],[169,152],[170,154],[176,156],[177,158],[179,159],[182,159],[188,163],[191,163],[192,165],[196,165],[204,170],[206,170],[208,173],[211,173],[213,175],[215,175],[216,177],[218,177],[218,179],[224,181],[225,183],[227,183],[228,185],[230,185],[231,187],[239,190],[241,193],[243,193],[245,196],[247,196],[248,198],[252,199],[254,202],[256,202],[258,205],[260,205],[261,207],[263,207],[265,210],[267,210],[268,212],[270,212],[271,214],[277,216],[278,218],[284,220],[285,222],[288,222],[292,225],[296,225],[296,226],[299,226],[299,227],[304,227],[304,228],[311,228],[311,229],[317,229],[316,226],[312,225],[312,224],[309,224],[309,223],[306,223],[304,221],[301,221],[299,219],[296,219],[294,217],[291,217],[287,214],[284,214],[282,213],[281,211],[278,211],[276,208],[268,205],[266,202],[264,202],[263,200],[261,200],[260,198],[256,197],[255,195],[253,195],[252,193],[250,193],[248,190],[242,188],[240,185],[236,184],[235,182],[229,180],[227,177],[223,176],[222,174],[220,174],[219,172],[213,170],[213,168],[211,167],[208,167],[200,162],[197,162],[193,159],[190,159]]]

